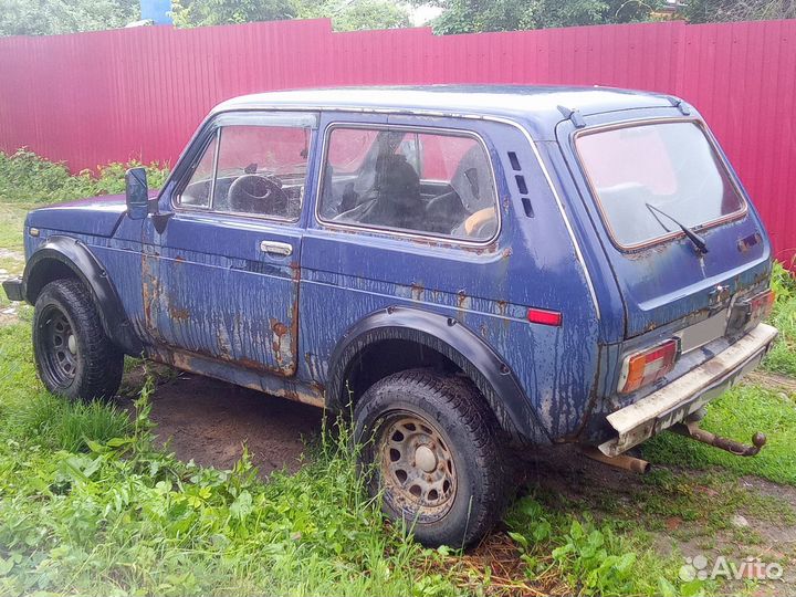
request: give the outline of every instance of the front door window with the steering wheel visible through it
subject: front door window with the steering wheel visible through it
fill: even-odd
[[[180,195],[180,203],[229,213],[297,219],[304,198],[310,136],[310,127],[219,128],[217,143],[206,149]],[[210,176],[206,174],[207,164]],[[210,198],[209,205],[197,200],[206,196]]]

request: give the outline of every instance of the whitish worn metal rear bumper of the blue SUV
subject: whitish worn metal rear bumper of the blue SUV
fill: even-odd
[[[609,457],[620,454],[682,421],[760,365],[776,336],[775,327],[760,324],[726,350],[671,384],[608,415],[608,423],[617,436],[600,444],[600,451]]]

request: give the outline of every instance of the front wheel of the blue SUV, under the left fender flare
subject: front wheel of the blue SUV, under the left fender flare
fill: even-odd
[[[107,399],[122,383],[124,354],[105,335],[91,291],[77,280],[45,285],[33,312],[39,377],[72,400]]]

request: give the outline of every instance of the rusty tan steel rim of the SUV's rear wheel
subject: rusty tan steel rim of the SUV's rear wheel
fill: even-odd
[[[385,420],[378,446],[385,501],[408,519],[431,523],[444,516],[457,493],[457,471],[449,441],[412,412]]]

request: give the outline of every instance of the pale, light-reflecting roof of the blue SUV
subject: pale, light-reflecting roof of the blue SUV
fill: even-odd
[[[670,96],[612,87],[522,85],[425,85],[335,87],[242,95],[216,106],[233,109],[296,108],[420,112],[443,116],[498,116],[555,125],[562,108],[583,115],[632,108],[672,107]]]

